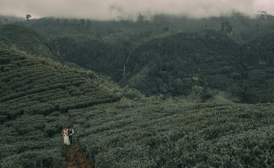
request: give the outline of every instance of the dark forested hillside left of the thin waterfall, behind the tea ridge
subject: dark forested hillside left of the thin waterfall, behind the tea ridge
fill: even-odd
[[[114,81],[119,81],[123,76],[122,69],[129,53],[129,49],[119,42],[113,45],[101,40],[61,38],[50,45],[59,51],[65,61],[111,76]]]

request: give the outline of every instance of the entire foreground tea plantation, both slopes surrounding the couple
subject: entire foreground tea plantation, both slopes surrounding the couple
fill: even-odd
[[[95,167],[273,167],[273,112],[145,98],[0,42],[0,167],[64,167],[65,124]]]

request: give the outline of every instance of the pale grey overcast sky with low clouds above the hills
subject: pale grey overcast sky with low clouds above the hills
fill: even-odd
[[[227,15],[233,10],[255,13],[265,10],[274,15],[274,0],[1,0],[1,15],[26,14],[66,18],[135,19],[143,15],[175,14],[199,18]]]

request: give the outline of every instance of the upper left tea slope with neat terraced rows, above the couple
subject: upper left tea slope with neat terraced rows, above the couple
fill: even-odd
[[[49,60],[43,58],[25,57],[22,62],[22,56],[18,57],[7,61],[0,73],[0,115],[46,115],[120,99],[108,91],[112,86],[94,72],[66,69],[59,64],[48,67]],[[27,64],[30,62],[33,64]],[[14,67],[6,69],[10,65]]]

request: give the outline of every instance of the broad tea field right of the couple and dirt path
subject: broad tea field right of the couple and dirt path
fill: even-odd
[[[273,104],[115,102],[69,110],[96,167],[273,167]]]

